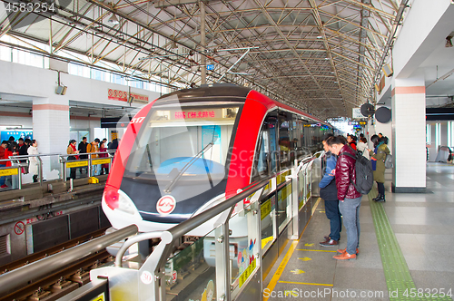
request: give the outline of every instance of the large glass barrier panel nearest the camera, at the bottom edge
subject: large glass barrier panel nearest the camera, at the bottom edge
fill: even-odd
[[[165,265],[166,300],[216,298],[214,230],[171,257]]]

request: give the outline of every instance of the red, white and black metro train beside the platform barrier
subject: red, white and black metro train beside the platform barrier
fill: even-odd
[[[246,87],[163,95],[129,121],[105,185],[104,213],[114,228],[172,228],[321,150],[327,131],[331,125]]]

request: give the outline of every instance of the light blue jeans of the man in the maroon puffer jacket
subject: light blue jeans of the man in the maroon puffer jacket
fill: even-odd
[[[360,206],[361,199],[344,199],[339,202],[343,225],[347,229],[347,253],[356,254],[360,247]]]

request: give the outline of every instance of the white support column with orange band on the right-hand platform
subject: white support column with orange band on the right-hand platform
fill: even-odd
[[[392,192],[426,191],[426,88],[424,77],[392,83]]]

